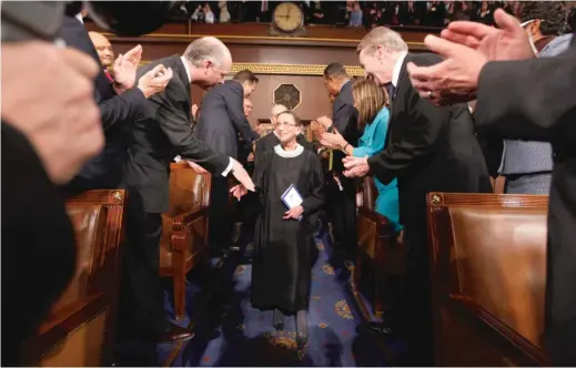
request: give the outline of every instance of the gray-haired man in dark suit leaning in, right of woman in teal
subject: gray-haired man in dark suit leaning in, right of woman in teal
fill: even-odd
[[[404,225],[406,276],[397,316],[415,351],[414,364],[432,365],[426,194],[489,193],[492,185],[474,122],[465,103],[434,106],[412,86],[406,63],[431,65],[435,54],[411,54],[402,37],[384,27],[373,29],[357,48],[360,63],[392,99],[388,140],[381,153],[347,157],[348,176],[368,171],[383,183],[398,181],[400,221]]]

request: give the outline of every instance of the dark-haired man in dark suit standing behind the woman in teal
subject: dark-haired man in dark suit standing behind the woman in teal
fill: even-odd
[[[352,98],[352,80],[342,64],[332,63],[324,69],[324,83],[330,94],[336,96],[332,105],[333,121],[326,116],[316,121],[323,124],[327,132],[336,129],[346,142],[355,146],[360,134],[358,114]],[[326,195],[331,198],[326,209],[332,223],[334,249],[344,258],[354,260],[357,247],[356,187],[353,180],[342,175],[342,159],[345,156],[343,152],[333,151],[332,172],[329,175],[335,175],[340,184],[334,177],[326,178]]]

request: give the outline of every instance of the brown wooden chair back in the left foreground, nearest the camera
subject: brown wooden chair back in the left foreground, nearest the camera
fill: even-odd
[[[41,367],[112,362],[124,203],[120,190],[89,191],[67,201],[77,272],[37,336],[23,344],[22,361]]]

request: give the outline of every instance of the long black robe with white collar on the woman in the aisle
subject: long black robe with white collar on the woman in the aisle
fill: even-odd
[[[286,315],[306,310],[312,279],[313,229],[324,203],[320,159],[301,145],[280,145],[256,156],[253,181],[261,198],[252,260],[252,306]],[[294,185],[304,203],[302,221],[283,219],[282,194]]]

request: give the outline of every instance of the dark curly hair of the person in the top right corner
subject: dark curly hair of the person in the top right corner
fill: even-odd
[[[566,8],[563,1],[526,1],[522,3],[521,22],[540,20],[544,35],[562,34],[566,28]]]

